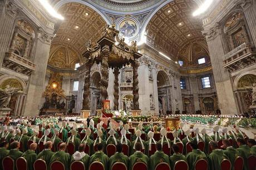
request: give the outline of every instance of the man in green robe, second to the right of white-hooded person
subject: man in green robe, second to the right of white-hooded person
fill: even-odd
[[[112,169],[113,164],[116,162],[122,162],[128,168],[129,158],[124,153],[122,153],[122,144],[121,143],[117,143],[116,153],[114,155],[112,155],[109,159],[109,169],[110,170]],[[124,170],[124,169],[122,169],[122,170]]]

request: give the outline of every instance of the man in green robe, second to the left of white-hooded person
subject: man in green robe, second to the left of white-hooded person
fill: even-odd
[[[41,151],[38,155],[37,155],[37,159],[43,159],[45,160],[46,164],[47,164],[47,168],[50,168],[50,161],[51,158],[53,156],[54,152],[52,152],[52,141],[48,141],[45,143],[45,149],[43,149],[43,151]]]

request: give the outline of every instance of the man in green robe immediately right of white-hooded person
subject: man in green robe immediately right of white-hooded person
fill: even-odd
[[[90,157],[90,163],[92,162],[99,161],[104,165],[104,169],[109,168],[109,157],[106,156],[106,154],[103,152],[103,144],[99,143],[97,145],[97,152],[95,152],[91,157]]]

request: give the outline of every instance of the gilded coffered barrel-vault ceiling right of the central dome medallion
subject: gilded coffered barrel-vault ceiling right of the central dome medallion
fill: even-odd
[[[156,12],[146,27],[147,43],[176,59],[187,43],[201,40],[200,18],[192,17],[198,8],[190,0],[175,0]]]

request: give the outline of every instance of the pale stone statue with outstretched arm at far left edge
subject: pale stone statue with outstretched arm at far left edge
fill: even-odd
[[[8,108],[12,95],[20,90],[20,88],[14,88],[9,85],[4,89],[0,89],[0,108]]]

